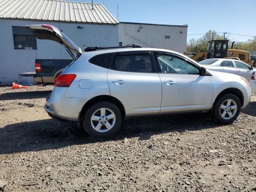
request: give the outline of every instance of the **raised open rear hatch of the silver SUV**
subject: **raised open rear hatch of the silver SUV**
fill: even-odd
[[[36,38],[52,40],[62,44],[74,60],[76,60],[76,58],[78,58],[82,54],[81,48],[74,44],[74,42],[72,42],[72,40],[70,40],[70,38],[68,38],[58,28],[48,24],[37,24],[27,26],[30,28],[30,30],[36,36]],[[77,56],[74,56],[73,53],[77,54]]]

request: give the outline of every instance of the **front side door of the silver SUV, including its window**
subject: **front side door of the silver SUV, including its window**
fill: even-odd
[[[210,76],[200,76],[200,67],[182,56],[155,52],[162,82],[161,114],[210,109],[213,87]]]

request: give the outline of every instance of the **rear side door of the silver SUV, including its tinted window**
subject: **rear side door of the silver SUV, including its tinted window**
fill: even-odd
[[[150,51],[115,53],[108,71],[111,96],[124,105],[126,116],[159,114],[162,85]]]

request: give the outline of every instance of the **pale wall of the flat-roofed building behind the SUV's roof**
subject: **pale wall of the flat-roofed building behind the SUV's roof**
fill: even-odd
[[[188,26],[120,23],[119,42],[122,42],[123,46],[136,44],[182,53],[186,51],[187,31]],[[170,35],[170,39],[165,39],[164,36],[166,35]]]

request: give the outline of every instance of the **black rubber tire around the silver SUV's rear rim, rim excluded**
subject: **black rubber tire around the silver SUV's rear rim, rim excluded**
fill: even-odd
[[[114,126],[110,130],[107,130],[106,132],[96,131],[92,127],[92,124],[91,124],[92,115],[94,114],[95,111],[99,110],[100,108],[110,109],[115,115]],[[110,102],[98,102],[98,103],[92,105],[86,111],[86,113],[84,115],[83,126],[84,126],[84,129],[86,130],[86,132],[90,136],[96,137],[96,138],[106,138],[106,137],[110,137],[110,136],[114,135],[118,131],[118,129],[121,126],[121,121],[122,121],[121,112],[115,104],[110,103]],[[97,122],[94,122],[94,123],[97,124]],[[102,128],[105,128],[104,125],[102,125],[102,126],[103,126]],[[105,130],[106,130],[106,128],[105,128]]]

